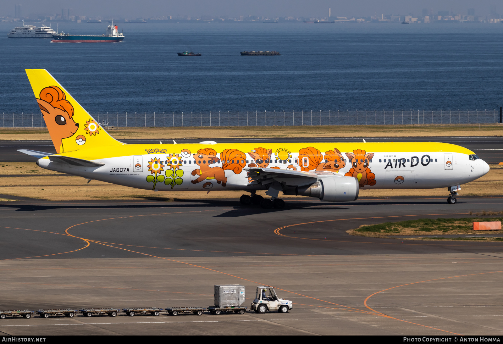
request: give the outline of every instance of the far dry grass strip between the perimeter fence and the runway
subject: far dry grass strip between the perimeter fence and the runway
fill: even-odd
[[[503,125],[368,125],[368,126],[268,126],[268,127],[137,127],[106,128],[121,139],[211,139],[261,137],[399,137],[399,136],[500,136]],[[49,140],[47,128],[2,128],[0,140]]]

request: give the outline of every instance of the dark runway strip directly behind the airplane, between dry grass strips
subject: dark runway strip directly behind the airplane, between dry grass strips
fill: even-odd
[[[216,142],[361,142],[361,137],[344,137],[344,138],[258,138],[258,139],[198,139],[185,140],[177,139],[177,143],[197,143],[204,140],[213,140]],[[171,138],[158,138],[151,140],[122,140],[128,144],[134,143],[171,143]],[[474,151],[481,159],[489,164],[497,164],[503,162],[503,137],[499,136],[464,136],[464,137],[365,137],[367,142],[446,142],[460,145]],[[16,161],[33,161],[34,158],[16,151],[16,149],[33,149],[42,152],[55,154],[56,151],[50,140],[37,141],[0,141],[0,162],[16,162]]]

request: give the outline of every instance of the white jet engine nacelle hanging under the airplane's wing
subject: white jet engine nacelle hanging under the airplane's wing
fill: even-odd
[[[297,187],[295,194],[317,197],[320,201],[348,202],[356,201],[360,186],[354,177],[326,177],[314,184]]]

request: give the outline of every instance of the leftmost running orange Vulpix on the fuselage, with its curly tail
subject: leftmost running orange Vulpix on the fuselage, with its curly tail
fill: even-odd
[[[216,156],[217,152],[213,148],[201,148],[197,153],[193,154],[198,169],[192,171],[192,176],[200,176],[198,179],[191,181],[192,184],[201,183],[207,179],[215,179],[222,186],[227,184],[225,170],[230,169],[236,175],[240,174],[243,167],[246,166],[246,155],[237,149],[225,149],[220,153],[220,159]],[[210,167],[210,164],[222,161],[222,167]]]

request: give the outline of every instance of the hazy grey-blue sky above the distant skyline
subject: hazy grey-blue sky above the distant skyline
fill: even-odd
[[[14,15],[14,5],[22,5],[23,16],[61,13],[71,8],[71,14],[103,17],[152,17],[177,15],[235,16],[327,16],[328,8],[335,16],[371,16],[377,14],[421,15],[424,8],[451,11],[466,15],[469,8],[476,15],[489,14],[490,6],[503,13],[503,3],[495,0],[2,0],[0,16]]]

